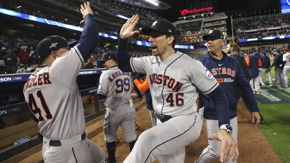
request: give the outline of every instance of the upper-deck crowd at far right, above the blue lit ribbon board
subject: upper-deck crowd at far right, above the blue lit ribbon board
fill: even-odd
[[[234,25],[240,39],[289,35],[290,14],[269,14],[238,18],[234,19]],[[245,30],[253,31],[244,32]]]

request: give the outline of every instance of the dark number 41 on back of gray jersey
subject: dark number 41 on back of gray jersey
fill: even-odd
[[[38,90],[37,93],[36,93],[37,97],[39,98],[40,102],[41,102],[41,106],[43,108],[43,110],[45,111],[46,113],[46,120],[50,120],[52,119],[52,114],[50,113],[50,110],[46,104],[46,101],[43,97],[43,94],[41,92],[41,90]],[[41,115],[41,110],[40,108],[37,106],[36,104],[36,101],[35,101],[35,98],[33,96],[32,93],[28,94],[28,106],[29,106],[29,109],[31,110],[31,112],[35,115],[35,114],[38,114],[38,119],[39,119],[39,122],[41,121],[45,121],[43,116]]]

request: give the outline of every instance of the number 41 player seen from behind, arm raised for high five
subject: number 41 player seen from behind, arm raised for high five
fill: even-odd
[[[61,36],[43,39],[37,52],[44,66],[31,74],[23,88],[31,112],[39,119],[39,133],[44,136],[44,162],[103,162],[106,158],[106,152],[86,138],[88,131],[76,82],[99,40],[89,2],[81,5],[81,13],[84,30],[80,40],[67,42]]]

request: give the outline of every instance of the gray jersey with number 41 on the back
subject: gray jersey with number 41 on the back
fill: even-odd
[[[76,78],[84,65],[77,47],[56,58],[51,66],[37,68],[24,85],[28,106],[39,119],[47,139],[64,140],[85,131],[81,95]]]

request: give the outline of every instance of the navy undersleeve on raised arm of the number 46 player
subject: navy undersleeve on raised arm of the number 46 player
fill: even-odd
[[[131,56],[128,53],[128,39],[119,38],[117,49],[117,63],[121,71],[133,72],[130,64]]]

